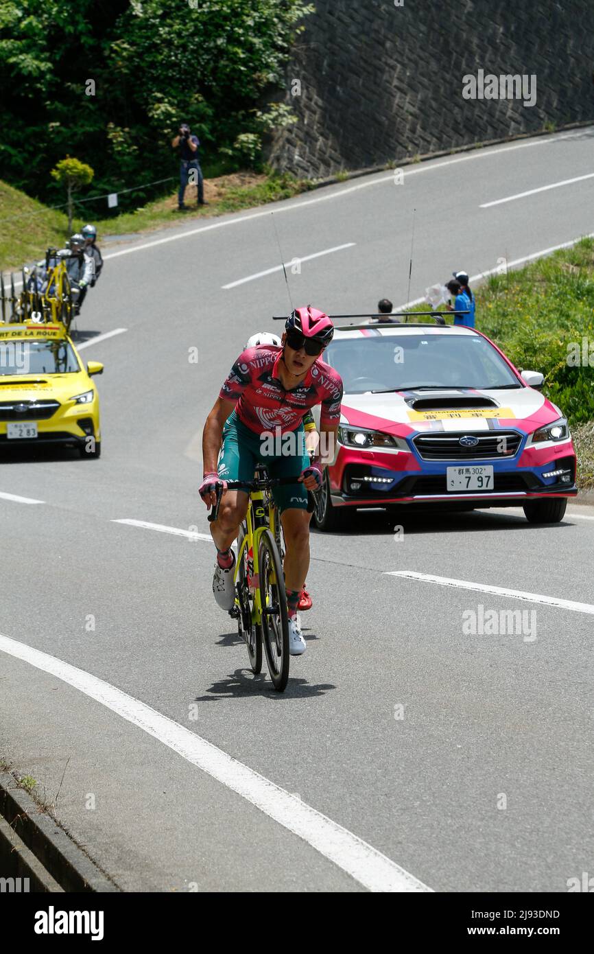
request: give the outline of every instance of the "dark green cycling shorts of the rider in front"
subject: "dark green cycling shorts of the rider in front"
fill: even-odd
[[[285,453],[275,453],[283,448]],[[299,424],[295,430],[285,432],[280,440],[266,441],[263,435],[256,434],[242,424],[235,410],[232,411],[223,427],[218,476],[227,481],[250,481],[254,479],[256,465],[260,462],[266,465],[270,477],[291,477],[309,467],[303,425]],[[274,487],[273,497],[280,513],[292,507],[307,509],[307,490],[302,483]]]

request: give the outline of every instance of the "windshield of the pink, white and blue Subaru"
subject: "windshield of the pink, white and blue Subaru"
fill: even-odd
[[[337,369],[347,394],[422,387],[522,387],[499,352],[479,335],[335,338],[323,360]]]

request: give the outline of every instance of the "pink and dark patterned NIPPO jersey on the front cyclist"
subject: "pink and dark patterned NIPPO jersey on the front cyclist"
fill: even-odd
[[[236,414],[250,430],[280,432],[295,430],[305,412],[321,404],[321,426],[336,426],[340,420],[342,379],[319,358],[297,387],[285,390],[278,377],[282,348],[258,344],[242,351],[220,389],[223,401],[236,401]]]

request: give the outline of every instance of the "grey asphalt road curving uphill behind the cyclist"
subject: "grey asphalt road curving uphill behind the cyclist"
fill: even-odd
[[[412,300],[453,269],[591,232],[593,137],[434,160],[403,184],[366,176],[108,251],[80,321],[82,354],[105,363],[101,459],[21,448],[0,464],[0,755],[57,796],[124,890],[563,892],[592,870],[594,510],[546,528],[521,510],[373,512],[314,533],[308,650],[278,696],[215,605],[196,487],[223,378],[288,308],[278,270],[223,287],[277,268],[275,227],[286,262],[348,245],[288,269],[296,305]],[[530,630],[468,634],[479,606],[527,612]]]

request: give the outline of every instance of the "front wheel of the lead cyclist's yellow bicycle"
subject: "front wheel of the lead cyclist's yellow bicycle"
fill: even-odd
[[[257,552],[264,652],[275,689],[282,693],[289,679],[289,620],[282,565],[270,529],[260,536]]]

